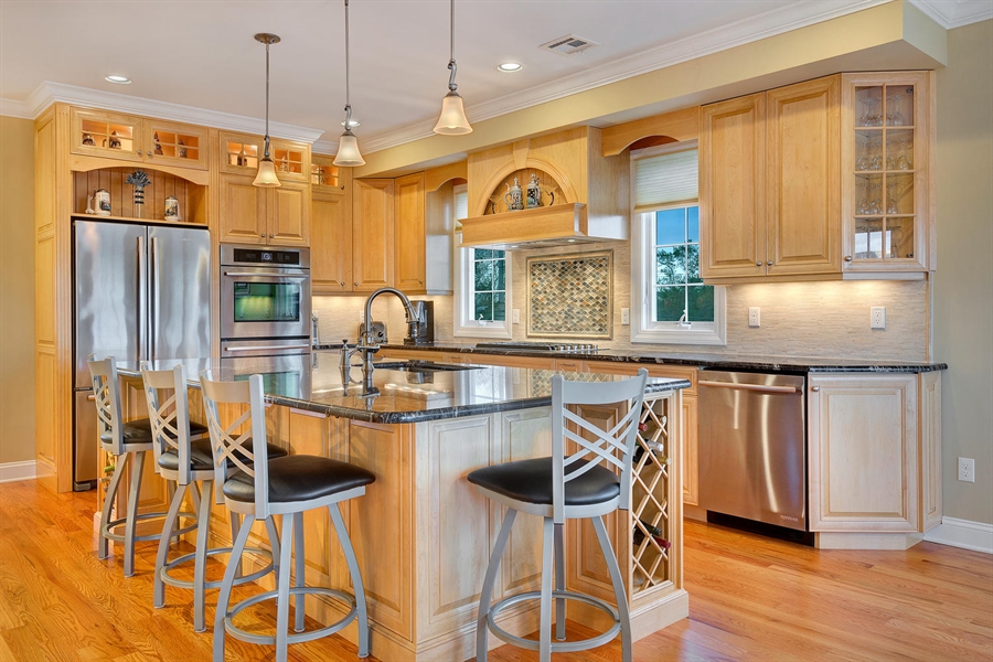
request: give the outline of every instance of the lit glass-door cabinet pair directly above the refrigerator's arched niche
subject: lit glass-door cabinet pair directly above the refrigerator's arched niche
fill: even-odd
[[[203,127],[83,108],[72,108],[71,121],[74,154],[197,170],[210,166]]]

